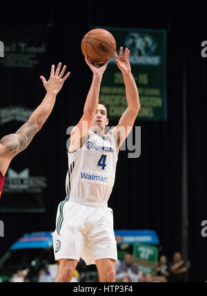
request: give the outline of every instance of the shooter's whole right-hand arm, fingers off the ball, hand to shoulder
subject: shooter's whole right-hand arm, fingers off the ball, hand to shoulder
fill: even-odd
[[[131,67],[128,60],[129,55],[130,50],[128,50],[128,48],[125,49],[124,55],[122,47],[120,48],[119,56],[117,55],[117,52],[115,52],[117,66],[121,70],[124,77],[126,101],[128,105],[123,115],[121,115],[118,125],[110,130],[110,134],[115,137],[117,142],[117,152],[119,151],[121,144],[123,144],[126,137],[128,137],[128,134],[132,130],[132,126],[134,125],[139,109],[141,108],[139,103],[139,92],[137,90],[135,79],[132,76]]]

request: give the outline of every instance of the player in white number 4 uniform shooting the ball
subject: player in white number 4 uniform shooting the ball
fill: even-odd
[[[115,282],[117,244],[112,209],[107,202],[115,181],[117,154],[139,112],[139,94],[128,60],[130,50],[115,53],[126,86],[128,108],[119,124],[104,134],[107,110],[99,103],[99,88],[108,62],[100,68],[86,63],[93,72],[83,116],[70,136],[67,196],[57,210],[53,233],[55,259],[59,270],[55,282],[70,282],[80,257],[96,264],[100,282]],[[124,130],[124,132],[123,132]],[[120,131],[120,132],[119,132]]]

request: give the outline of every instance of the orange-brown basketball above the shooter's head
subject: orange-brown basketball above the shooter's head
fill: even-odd
[[[92,63],[106,63],[115,54],[116,47],[115,38],[104,29],[90,30],[81,41],[83,56]]]

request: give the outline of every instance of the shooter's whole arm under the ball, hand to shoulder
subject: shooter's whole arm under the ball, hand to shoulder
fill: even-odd
[[[91,63],[87,59],[87,57],[85,57],[85,60],[93,73],[92,83],[83,108],[83,116],[79,120],[77,126],[72,128],[71,131],[69,147],[70,152],[73,152],[80,148],[82,144],[86,141],[86,139],[88,139],[89,137],[88,130],[92,126],[92,120],[95,116],[97,105],[99,103],[99,91],[101,86],[101,80],[103,77],[103,73],[108,65],[108,61],[103,66],[99,67]]]

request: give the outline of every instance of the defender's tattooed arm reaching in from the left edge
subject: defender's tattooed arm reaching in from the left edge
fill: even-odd
[[[23,124],[14,134],[4,136],[0,140],[0,198],[3,190],[4,176],[6,175],[10,162],[14,156],[28,147],[34,135],[41,130],[41,127],[52,112],[57,93],[61,90],[64,81],[66,81],[70,75],[70,72],[68,72],[66,76],[63,77],[66,66],[63,66],[61,72],[60,70],[61,63],[58,64],[56,71],[55,66],[52,65],[50,79],[46,81],[45,77],[40,77],[43,86],[47,90],[43,101],[37,109],[32,112],[26,124]]]

